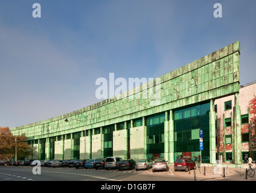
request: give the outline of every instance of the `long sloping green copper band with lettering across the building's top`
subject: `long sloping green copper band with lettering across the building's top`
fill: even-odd
[[[240,43],[234,42],[159,78],[161,84],[155,79],[91,106],[11,131],[28,139],[48,138],[84,130],[81,122],[65,122],[66,118],[86,122],[86,129],[91,129],[231,95],[239,91]],[[161,93],[159,100],[150,98],[152,89],[154,94]],[[136,94],[140,98],[135,98]]]

